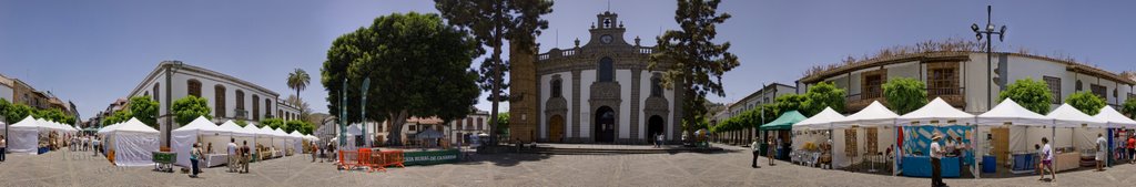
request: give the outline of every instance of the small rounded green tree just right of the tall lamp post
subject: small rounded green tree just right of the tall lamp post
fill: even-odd
[[[1013,82],[997,96],[999,102],[1011,99],[1022,108],[1037,113],[1049,113],[1050,103],[1053,102],[1053,94],[1050,94],[1049,85],[1028,77]]]

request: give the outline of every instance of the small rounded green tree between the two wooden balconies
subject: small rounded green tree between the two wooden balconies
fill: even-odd
[[[927,85],[914,78],[892,78],[884,84],[884,99],[895,113],[907,114],[927,105]]]

